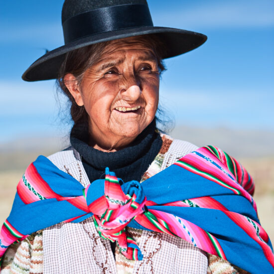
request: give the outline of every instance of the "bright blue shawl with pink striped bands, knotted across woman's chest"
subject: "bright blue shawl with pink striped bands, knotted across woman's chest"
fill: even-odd
[[[101,237],[117,241],[131,260],[142,254],[126,226],[180,237],[250,273],[273,273],[273,249],[253,192],[243,166],[214,146],[185,155],[141,184],[124,183],[106,168],[105,180],[84,189],[39,156],[18,183],[0,231],[0,256],[37,230],[93,216]]]

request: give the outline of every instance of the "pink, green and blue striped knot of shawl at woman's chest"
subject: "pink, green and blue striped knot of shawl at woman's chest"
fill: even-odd
[[[128,235],[126,226],[145,211],[146,197],[139,182],[123,184],[124,191],[121,183],[123,181],[106,168],[105,195],[92,203],[93,209],[95,208],[94,224],[102,238],[117,241],[120,251],[128,259],[142,260],[140,249]],[[97,204],[100,212],[96,210]]]

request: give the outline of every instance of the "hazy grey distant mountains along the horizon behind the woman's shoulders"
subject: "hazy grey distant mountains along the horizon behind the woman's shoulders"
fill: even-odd
[[[271,131],[177,126],[170,135],[198,146],[216,145],[238,158],[274,156],[274,132]],[[47,156],[68,146],[68,137],[25,137],[0,143],[0,170],[25,169],[38,155]]]

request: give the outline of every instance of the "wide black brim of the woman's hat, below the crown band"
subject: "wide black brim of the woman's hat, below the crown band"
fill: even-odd
[[[202,45],[207,39],[206,35],[198,32],[154,26],[126,28],[97,33],[77,39],[47,52],[29,66],[22,75],[22,79],[30,82],[57,79],[59,77],[59,69],[67,52],[100,42],[147,34],[156,34],[166,46],[165,54],[162,56],[163,59],[193,50]]]

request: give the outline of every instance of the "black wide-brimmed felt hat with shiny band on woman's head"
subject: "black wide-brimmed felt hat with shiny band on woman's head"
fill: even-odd
[[[201,33],[156,27],[146,0],[65,0],[62,9],[65,45],[36,60],[22,75],[25,81],[58,78],[65,54],[91,44],[155,34],[166,45],[162,58],[173,57],[203,44]]]

